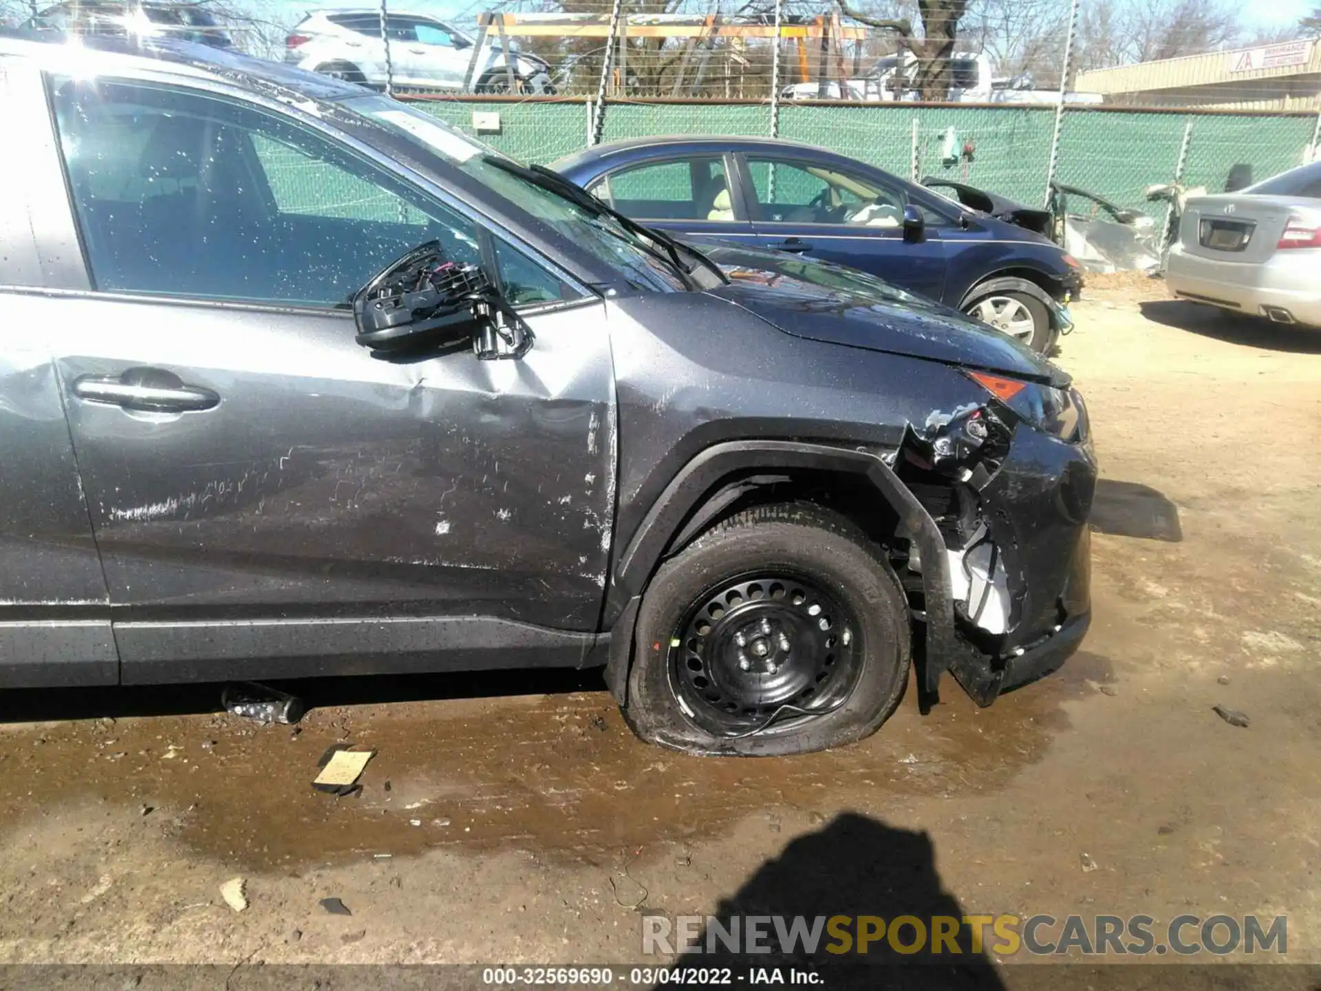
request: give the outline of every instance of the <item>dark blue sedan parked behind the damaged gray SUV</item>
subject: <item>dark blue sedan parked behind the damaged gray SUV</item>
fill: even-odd
[[[762,137],[637,137],[552,169],[686,240],[861,268],[1049,353],[1082,268],[1046,238],[853,159]]]

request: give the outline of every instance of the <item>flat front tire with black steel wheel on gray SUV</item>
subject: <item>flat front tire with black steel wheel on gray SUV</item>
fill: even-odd
[[[838,747],[898,706],[910,640],[898,580],[853,523],[807,503],[752,509],[657,572],[624,715],[688,753]]]

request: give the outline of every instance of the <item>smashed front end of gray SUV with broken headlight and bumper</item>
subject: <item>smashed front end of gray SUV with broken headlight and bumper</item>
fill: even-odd
[[[950,671],[989,706],[1059,667],[1087,630],[1096,465],[1077,391],[970,378],[988,399],[910,425],[893,456],[896,477],[943,542],[935,562],[910,542],[896,566],[914,618],[927,625],[918,641],[929,700]]]

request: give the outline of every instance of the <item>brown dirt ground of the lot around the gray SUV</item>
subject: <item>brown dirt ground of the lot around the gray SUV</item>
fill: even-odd
[[[620,963],[642,910],[954,902],[1287,914],[1288,959],[1321,961],[1321,333],[1111,281],[1058,355],[1103,473],[1059,674],[756,761],[641,744],[590,675],[304,683],[297,729],[214,686],[12,692],[0,962]],[[362,794],[313,791],[345,740],[378,751]]]

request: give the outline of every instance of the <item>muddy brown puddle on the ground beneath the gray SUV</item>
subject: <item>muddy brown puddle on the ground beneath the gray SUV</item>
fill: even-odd
[[[711,835],[777,807],[830,815],[884,810],[914,794],[996,789],[1067,728],[1063,702],[1096,694],[1110,678],[1108,661],[1082,653],[988,710],[950,682],[946,703],[929,716],[918,715],[910,696],[871,740],[770,760],[647,747],[609,695],[563,691],[564,679],[548,686],[561,688],[552,694],[329,704],[297,729],[198,711],[218,688],[119,690],[99,707],[118,717],[94,717],[92,702],[79,719],[59,719],[59,694],[46,692],[37,715],[52,721],[17,723],[21,700],[0,714],[0,828],[61,805],[106,802],[159,817],[168,835],[196,852],[247,871],[292,872],[436,847],[594,858]],[[592,683],[567,679],[569,688]],[[353,686],[346,679],[330,696],[345,703]],[[462,695],[461,684],[453,687],[446,694]],[[318,702],[316,691],[308,695]],[[193,712],[180,712],[190,699]],[[337,741],[376,751],[362,791],[347,798],[310,788],[318,757]]]

